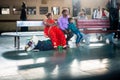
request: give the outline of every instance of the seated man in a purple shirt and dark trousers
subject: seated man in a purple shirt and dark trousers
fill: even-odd
[[[62,11],[62,16],[58,19],[59,28],[67,35],[66,41],[68,45],[68,41],[73,37],[73,33],[68,30],[68,10],[64,9]]]

